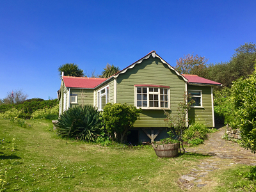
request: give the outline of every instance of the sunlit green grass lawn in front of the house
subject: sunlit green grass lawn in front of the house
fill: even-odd
[[[50,121],[26,124],[0,120],[0,180],[6,181],[6,191],[183,191],[177,184],[180,176],[210,158],[160,159],[151,147],[67,141],[56,136]],[[237,168],[227,168],[225,175],[223,170],[212,173],[213,185],[192,191],[234,190],[230,182],[241,178],[232,176]]]

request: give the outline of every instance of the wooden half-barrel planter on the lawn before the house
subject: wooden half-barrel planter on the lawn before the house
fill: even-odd
[[[154,145],[152,144],[152,147],[154,148],[156,155],[158,157],[176,157],[179,152],[179,143],[173,143],[173,144],[164,144],[164,145]]]

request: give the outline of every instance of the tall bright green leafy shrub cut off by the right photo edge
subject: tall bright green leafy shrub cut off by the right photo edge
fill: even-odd
[[[256,65],[255,65],[256,69]],[[234,120],[231,127],[241,131],[242,144],[256,152],[256,71],[247,79],[237,79],[232,86]]]

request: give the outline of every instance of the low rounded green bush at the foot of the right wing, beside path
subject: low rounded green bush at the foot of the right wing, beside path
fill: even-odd
[[[184,131],[184,141],[193,145],[199,145],[207,139],[208,132],[209,129],[205,125],[199,123],[192,124]]]

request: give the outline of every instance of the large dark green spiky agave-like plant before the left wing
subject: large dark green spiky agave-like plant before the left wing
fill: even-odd
[[[76,106],[65,111],[55,126],[57,134],[63,138],[95,141],[102,132],[102,116],[93,106]]]

